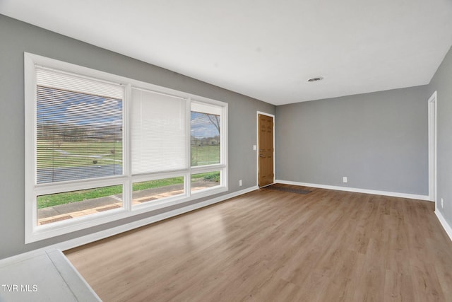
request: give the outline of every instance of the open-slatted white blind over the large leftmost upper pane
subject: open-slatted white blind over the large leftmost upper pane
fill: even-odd
[[[122,175],[124,86],[36,68],[36,183]]]

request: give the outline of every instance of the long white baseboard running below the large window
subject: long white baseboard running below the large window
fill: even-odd
[[[225,201],[226,199],[237,197],[239,195],[246,194],[248,192],[252,192],[252,191],[255,191],[255,190],[258,190],[258,186],[249,187],[249,188],[246,188],[244,190],[240,190],[240,191],[237,191],[237,192],[232,192],[230,194],[225,194],[225,195],[222,195],[220,197],[216,197],[216,198],[213,198],[213,199],[205,200],[203,202],[197,202],[196,204],[191,204],[191,205],[186,206],[186,207],[182,207],[182,208],[179,208],[179,209],[174,209],[172,211],[167,211],[165,213],[158,214],[158,215],[155,215],[155,216],[150,216],[148,218],[141,219],[141,220],[138,220],[138,221],[133,221],[131,223],[126,223],[126,224],[123,224],[121,226],[116,226],[114,228],[109,228],[107,230],[100,231],[100,232],[97,232],[97,233],[92,233],[92,234],[85,235],[85,236],[78,237],[78,238],[74,238],[74,239],[71,239],[71,240],[66,240],[66,241],[63,241],[61,243],[55,243],[53,245],[47,245],[44,248],[38,248],[36,250],[31,250],[29,252],[24,252],[24,253],[19,254],[19,255],[14,255],[14,256],[11,256],[11,257],[8,257],[8,258],[1,259],[0,260],[0,266],[1,265],[6,265],[6,264],[9,264],[9,263],[13,263],[13,262],[27,260],[27,259],[30,259],[32,257],[35,257],[36,255],[42,255],[43,252],[45,252],[47,250],[51,250],[51,249],[69,250],[71,248],[76,248],[78,246],[85,245],[85,244],[88,244],[88,243],[92,243],[94,241],[101,240],[101,239],[104,239],[104,238],[107,238],[107,237],[110,237],[110,236],[114,236],[114,235],[117,235],[119,233],[124,233],[126,231],[131,231],[131,230],[133,230],[133,228],[139,228],[141,226],[146,226],[146,225],[148,225],[150,223],[154,223],[154,222],[157,222],[157,221],[168,219],[168,218],[180,215],[180,214],[187,213],[189,211],[194,211],[196,209],[201,209],[203,207],[210,206],[211,204],[216,204],[218,202]]]

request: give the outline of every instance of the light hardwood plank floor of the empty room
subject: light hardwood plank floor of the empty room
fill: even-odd
[[[452,301],[434,204],[257,190],[66,251],[104,301]]]

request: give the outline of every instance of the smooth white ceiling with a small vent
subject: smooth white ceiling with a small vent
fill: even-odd
[[[427,84],[452,45],[452,0],[0,0],[0,13],[275,105]]]

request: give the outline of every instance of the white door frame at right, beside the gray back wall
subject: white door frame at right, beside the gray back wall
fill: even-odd
[[[437,202],[437,164],[436,164],[436,120],[437,120],[437,98],[436,91],[428,100],[429,108],[429,199],[435,203],[435,210],[438,209]]]

